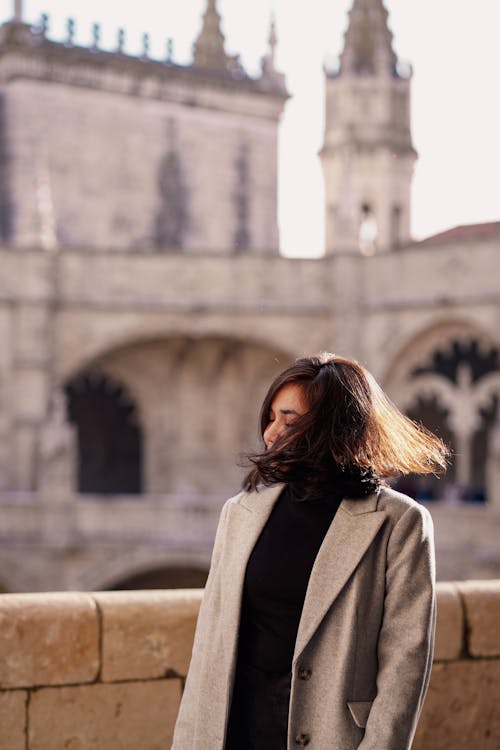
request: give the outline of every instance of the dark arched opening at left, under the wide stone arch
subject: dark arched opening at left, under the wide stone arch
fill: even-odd
[[[138,494],[142,491],[142,431],[126,388],[100,371],[73,378],[65,387],[68,418],[77,430],[78,491]]]

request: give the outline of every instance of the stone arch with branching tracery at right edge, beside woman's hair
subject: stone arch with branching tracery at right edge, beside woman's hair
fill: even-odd
[[[393,360],[384,386],[396,403],[451,446],[439,489],[419,479],[417,492],[450,500],[498,502],[500,481],[500,342],[463,322],[433,326]]]

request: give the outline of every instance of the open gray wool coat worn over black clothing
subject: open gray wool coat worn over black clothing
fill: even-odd
[[[225,504],[173,750],[223,750],[248,557],[283,485]],[[292,663],[288,750],[408,750],[432,665],[432,521],[382,488],[344,499],[314,563]]]

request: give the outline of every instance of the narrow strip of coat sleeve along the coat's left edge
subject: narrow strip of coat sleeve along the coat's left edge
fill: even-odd
[[[210,570],[196,623],[191,662],[189,664],[184,692],[179,707],[179,713],[177,715],[171,750],[188,750],[188,748],[194,747],[194,731],[200,693],[200,680],[205,660],[205,641],[208,629],[207,621],[210,617],[214,616],[214,609],[221,606],[220,593],[217,585],[218,568],[224,545],[226,517],[230,502],[231,500],[228,500],[222,508],[217,532],[215,534]]]

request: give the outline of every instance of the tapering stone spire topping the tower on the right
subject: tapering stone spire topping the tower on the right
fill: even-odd
[[[340,73],[395,75],[397,58],[383,0],[354,0],[340,57]]]

